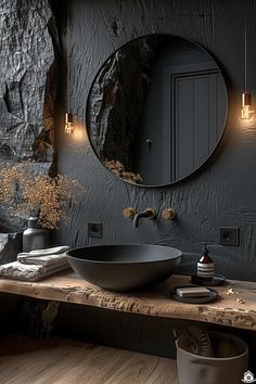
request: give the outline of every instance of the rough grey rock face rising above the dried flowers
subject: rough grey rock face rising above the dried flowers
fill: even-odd
[[[0,159],[52,161],[52,27],[47,0],[0,2]]]

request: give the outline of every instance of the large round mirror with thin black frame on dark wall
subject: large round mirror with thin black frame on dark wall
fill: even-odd
[[[210,156],[225,129],[227,89],[199,44],[149,35],[114,52],[87,102],[87,130],[100,161],[141,185],[191,175]]]

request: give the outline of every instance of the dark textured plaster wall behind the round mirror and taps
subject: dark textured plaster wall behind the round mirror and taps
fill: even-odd
[[[184,270],[194,266],[207,242],[216,271],[228,278],[255,280],[256,270],[256,124],[240,120],[244,69],[244,9],[247,7],[248,78],[256,102],[256,8],[247,0],[73,0],[71,5],[71,106],[79,128],[73,137],[59,127],[59,170],[87,187],[81,203],[71,209],[71,225],[56,241],[72,246],[95,243],[154,243],[184,253]],[[60,5],[60,2],[59,2]],[[59,9],[57,2],[55,5]],[[56,12],[60,16],[60,9]],[[182,182],[164,189],[130,185],[115,178],[93,154],[85,130],[86,102],[103,62],[118,47],[142,35],[165,33],[205,47],[223,71],[229,92],[225,136],[215,155]],[[63,113],[63,108],[60,110]],[[121,217],[125,207],[153,207],[155,221],[138,229]],[[177,220],[161,218],[165,207]],[[88,239],[87,223],[103,222],[103,238]],[[219,227],[238,226],[241,244],[219,245]]]

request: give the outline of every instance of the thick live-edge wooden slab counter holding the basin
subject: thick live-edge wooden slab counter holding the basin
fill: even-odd
[[[229,280],[225,285],[214,287],[219,297],[209,304],[183,304],[169,298],[171,286],[189,283],[189,277],[172,276],[150,291],[120,294],[90,284],[68,270],[40,282],[0,279],[0,292],[256,331],[256,282]],[[227,295],[229,290],[232,293]],[[243,303],[238,302],[241,299]]]

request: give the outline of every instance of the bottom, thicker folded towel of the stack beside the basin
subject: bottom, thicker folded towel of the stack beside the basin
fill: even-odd
[[[5,279],[38,281],[69,268],[69,265],[40,266],[13,261],[0,266],[0,277]]]

